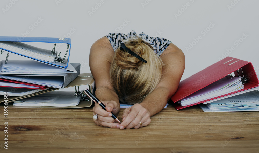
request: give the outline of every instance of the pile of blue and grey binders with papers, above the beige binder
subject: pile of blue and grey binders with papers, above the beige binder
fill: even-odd
[[[0,61],[0,95],[7,92],[8,96],[25,96],[53,88],[63,89],[80,74],[80,63],[68,62],[70,38],[26,37],[23,40],[42,44],[53,43],[54,48],[55,43],[66,43],[68,47],[67,51],[63,52],[64,58],[61,58],[61,52],[55,49],[53,51],[37,48],[17,42],[17,38],[0,36],[0,49],[8,52],[6,60]],[[12,54],[18,54],[26,60],[8,60]]]

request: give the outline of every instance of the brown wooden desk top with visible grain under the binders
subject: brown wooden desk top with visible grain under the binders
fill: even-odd
[[[121,120],[123,109],[118,117]],[[0,152],[259,152],[259,112],[210,112],[198,106],[168,106],[147,127],[111,129],[93,122],[92,107],[8,108],[0,106]]]

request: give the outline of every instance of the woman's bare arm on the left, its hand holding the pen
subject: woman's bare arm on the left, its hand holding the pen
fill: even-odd
[[[94,120],[97,125],[118,128],[119,123],[111,117],[113,112],[118,115],[120,103],[117,94],[114,92],[109,69],[113,59],[114,50],[107,37],[97,40],[90,49],[89,65],[95,79],[96,97],[104,103],[106,111],[95,103],[93,115],[98,114],[98,119]]]

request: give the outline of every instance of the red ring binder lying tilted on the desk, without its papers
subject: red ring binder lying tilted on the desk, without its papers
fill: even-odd
[[[181,106],[177,102],[184,97],[187,97],[196,91],[208,86],[209,84],[218,81],[219,79],[226,77],[227,75],[234,72],[234,75],[237,77],[243,78],[244,89],[224,94],[218,97],[211,99],[206,99],[199,101],[195,104],[190,104],[187,106]],[[233,76],[234,77],[234,76]],[[189,106],[197,105],[200,103],[206,104],[206,102],[212,102],[219,99],[226,98],[226,96],[242,94],[244,92],[256,90],[259,86],[259,81],[254,70],[254,67],[251,62],[243,61],[233,57],[226,57],[219,62],[203,69],[202,71],[192,75],[191,77],[181,81],[179,83],[178,89],[175,94],[171,97],[171,100],[174,102],[174,107],[179,110]],[[249,90],[251,89],[251,90]]]

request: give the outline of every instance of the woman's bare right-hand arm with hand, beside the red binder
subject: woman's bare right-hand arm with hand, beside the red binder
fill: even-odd
[[[124,110],[120,129],[147,126],[151,122],[150,117],[160,112],[176,92],[184,72],[185,56],[181,49],[170,43],[160,58],[164,63],[161,80],[142,103]]]

